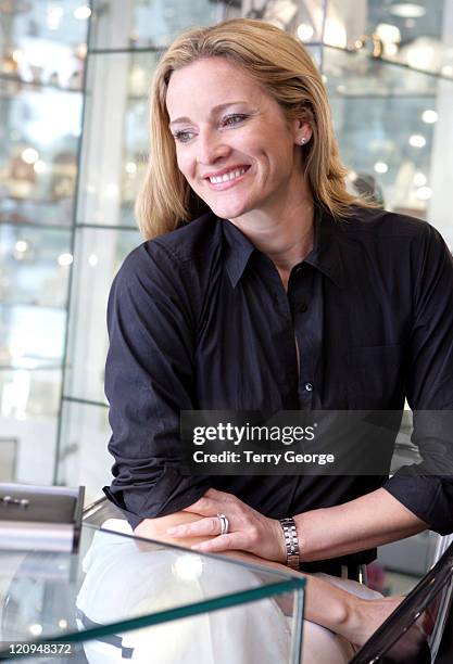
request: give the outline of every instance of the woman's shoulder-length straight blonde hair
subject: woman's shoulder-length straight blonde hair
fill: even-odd
[[[268,23],[234,18],[187,30],[175,39],[158,64],[150,94],[150,156],[136,203],[144,238],[172,231],[207,209],[177,167],[165,104],[172,73],[206,58],[226,58],[237,64],[264,86],[288,119],[311,125],[312,138],[301,150],[315,202],[335,217],[350,215],[354,204],[373,205],[347,191],[348,170],[340,161],[326,89],[306,50]]]

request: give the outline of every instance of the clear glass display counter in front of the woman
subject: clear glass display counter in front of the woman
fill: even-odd
[[[0,550],[0,660],[295,664],[304,584],[84,523],[76,554]]]

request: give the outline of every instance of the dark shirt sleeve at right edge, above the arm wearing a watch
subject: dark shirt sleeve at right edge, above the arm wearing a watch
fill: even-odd
[[[453,531],[453,259],[429,225],[417,250],[406,394],[423,461],[385,488],[444,535]]]

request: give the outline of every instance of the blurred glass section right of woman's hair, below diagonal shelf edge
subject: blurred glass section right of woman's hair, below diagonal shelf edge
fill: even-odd
[[[427,119],[437,118],[436,80],[330,48],[324,66],[352,187],[367,181],[372,190],[381,189],[388,209],[426,217],[436,128]]]

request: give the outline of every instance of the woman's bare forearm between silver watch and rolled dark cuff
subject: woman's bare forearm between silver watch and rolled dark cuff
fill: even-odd
[[[331,508],[297,514],[303,561],[338,558],[395,541],[428,525],[379,488]]]

